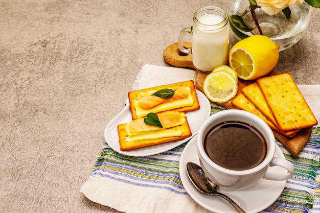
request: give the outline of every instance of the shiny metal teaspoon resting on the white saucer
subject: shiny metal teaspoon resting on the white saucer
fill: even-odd
[[[199,165],[193,162],[188,162],[186,168],[191,182],[201,193],[211,196],[220,196],[231,203],[240,213],[245,213],[245,211],[238,206],[235,201],[228,196],[217,192],[217,185],[210,180],[206,174],[204,174],[204,171],[199,167]]]

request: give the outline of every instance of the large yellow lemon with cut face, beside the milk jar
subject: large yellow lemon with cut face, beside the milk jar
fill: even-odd
[[[267,36],[254,35],[237,42],[229,63],[244,80],[255,80],[271,72],[278,63],[280,46]]]

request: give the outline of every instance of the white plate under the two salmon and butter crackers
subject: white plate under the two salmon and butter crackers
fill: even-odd
[[[197,90],[197,97],[199,100],[200,109],[186,113],[188,123],[192,132],[192,135],[190,137],[159,144],[159,145],[153,145],[149,147],[143,147],[143,148],[128,150],[128,151],[121,151],[117,126],[119,124],[125,124],[132,121],[131,111],[129,107],[129,100],[127,99],[126,106],[122,109],[122,111],[119,114],[113,117],[113,119],[106,126],[104,130],[105,140],[108,143],[108,145],[116,152],[121,153],[123,155],[135,156],[135,157],[143,157],[143,156],[159,154],[159,153],[168,151],[170,149],[173,149],[185,143],[186,141],[190,140],[190,138],[192,138],[198,132],[198,129],[203,123],[203,121],[207,119],[211,114],[211,106],[208,98],[205,97],[205,95],[198,90]]]

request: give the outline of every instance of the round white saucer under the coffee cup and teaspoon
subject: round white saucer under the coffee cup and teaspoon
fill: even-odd
[[[190,181],[186,171],[187,162],[194,162],[200,165],[197,154],[196,138],[197,135],[189,141],[181,155],[179,171],[182,184],[184,184],[184,187],[191,198],[202,207],[216,213],[238,212],[224,199],[200,193]],[[278,145],[276,146],[275,156],[285,158]],[[287,171],[281,167],[272,167],[269,168],[268,171],[279,174],[287,173]],[[219,190],[218,188],[218,192],[221,192],[233,199],[247,213],[256,213],[262,211],[275,202],[281,195],[285,184],[286,181],[260,180],[256,185],[249,187],[246,190],[227,191]]]

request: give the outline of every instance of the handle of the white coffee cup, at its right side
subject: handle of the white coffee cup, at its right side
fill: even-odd
[[[279,167],[282,167],[282,168],[288,170],[288,173],[275,174],[275,173],[268,173],[267,172],[264,174],[263,179],[281,181],[281,180],[288,180],[292,177],[292,175],[294,173],[294,167],[291,162],[289,162],[288,160],[282,159],[282,158],[273,157],[272,161],[270,162],[270,167],[273,167],[275,165],[278,165]]]

